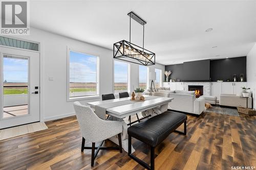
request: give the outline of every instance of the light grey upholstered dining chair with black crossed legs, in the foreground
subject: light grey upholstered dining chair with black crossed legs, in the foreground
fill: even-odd
[[[99,118],[90,107],[83,106],[79,102],[74,102],[74,109],[82,134],[81,152],[83,152],[84,149],[92,150],[91,166],[94,166],[94,160],[99,150],[119,150],[120,153],[122,153],[121,122],[103,120]],[[119,147],[101,147],[105,139],[115,135],[118,135]],[[92,142],[92,147],[84,147],[86,140]],[[95,143],[100,141],[99,147],[95,147]]]

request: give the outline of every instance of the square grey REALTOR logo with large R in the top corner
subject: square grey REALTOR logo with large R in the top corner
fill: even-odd
[[[1,0],[1,35],[29,35],[29,1]]]

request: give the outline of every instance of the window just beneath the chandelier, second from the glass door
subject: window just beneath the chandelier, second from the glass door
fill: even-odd
[[[114,93],[128,91],[128,69],[126,62],[114,60]]]

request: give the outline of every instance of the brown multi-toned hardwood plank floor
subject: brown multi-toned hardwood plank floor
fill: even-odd
[[[243,114],[188,115],[187,136],[174,132],[156,148],[156,169],[256,166],[255,118]],[[91,151],[80,151],[75,116],[46,124],[47,130],[0,141],[0,169],[143,169],[119,151],[100,151],[91,167]],[[115,145],[109,140],[105,144]],[[135,155],[150,162],[150,148],[138,140],[133,140],[133,145]]]

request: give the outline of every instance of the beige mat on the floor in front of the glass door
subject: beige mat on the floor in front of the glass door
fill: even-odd
[[[44,122],[36,122],[28,125],[7,128],[7,129],[0,130],[0,140],[9,139],[12,137],[25,135],[28,133],[33,133],[33,132],[46,130],[46,129],[48,129],[48,127]]]

